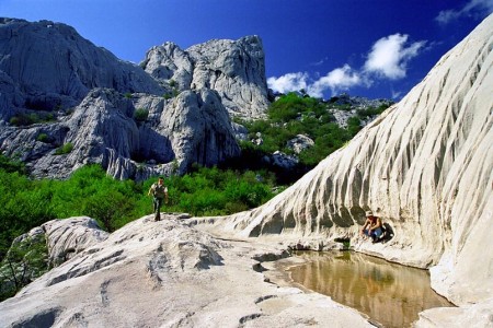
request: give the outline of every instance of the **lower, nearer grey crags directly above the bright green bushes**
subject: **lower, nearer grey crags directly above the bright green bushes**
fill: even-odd
[[[149,110],[147,121],[134,119],[137,108]],[[42,133],[48,142],[38,140]],[[73,149],[57,154],[64,144]],[[184,173],[193,163],[211,166],[240,153],[228,113],[211,90],[185,91],[165,101],[146,94],[130,99],[114,90],[94,89],[58,122],[5,127],[0,145],[5,155],[21,153],[35,176],[55,178],[99,163],[113,177],[144,179]]]

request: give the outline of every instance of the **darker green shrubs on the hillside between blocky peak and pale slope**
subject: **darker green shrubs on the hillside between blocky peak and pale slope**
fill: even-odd
[[[343,147],[362,129],[362,120],[379,115],[390,106],[390,102],[379,107],[369,107],[356,110],[356,116],[347,120],[347,127],[340,127],[330,109],[352,110],[348,104],[337,104],[339,98],[329,102],[312,98],[307,95],[288,93],[274,102],[268,110],[267,118],[254,121],[240,120],[246,127],[249,136],[246,141],[240,143],[242,156],[236,163],[227,165],[242,168],[266,167],[262,161],[265,155],[275,151],[293,154],[287,142],[297,134],[305,134],[314,141],[312,148],[303,150],[299,155],[299,164],[289,172],[278,167],[267,166],[277,175],[280,184],[291,184],[307,171],[313,168],[321,160]],[[262,139],[255,145],[251,140]]]

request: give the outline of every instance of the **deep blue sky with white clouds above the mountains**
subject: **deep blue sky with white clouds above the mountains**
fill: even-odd
[[[1,0],[0,16],[73,26],[139,62],[181,48],[259,35],[270,87],[399,101],[493,12],[493,0]]]

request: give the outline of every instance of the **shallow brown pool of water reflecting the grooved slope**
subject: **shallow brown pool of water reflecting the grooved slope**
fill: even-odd
[[[294,282],[367,314],[383,327],[410,327],[417,313],[454,306],[429,286],[428,271],[352,251],[298,253]]]

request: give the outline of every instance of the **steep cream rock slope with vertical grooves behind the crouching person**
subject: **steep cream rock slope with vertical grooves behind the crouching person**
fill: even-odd
[[[265,206],[216,219],[221,233],[352,237],[356,250],[432,267],[456,304],[493,296],[493,15],[399,104]],[[372,210],[394,230],[357,237]]]

